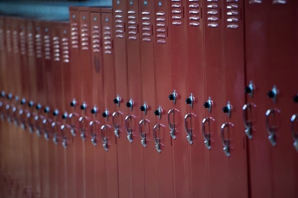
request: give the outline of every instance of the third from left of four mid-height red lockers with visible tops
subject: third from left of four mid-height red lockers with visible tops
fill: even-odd
[[[106,167],[105,151],[101,146],[100,127],[102,124],[102,112],[104,112],[104,89],[103,89],[103,58],[102,58],[102,33],[100,7],[90,7],[90,43],[91,43],[91,69],[92,69],[92,103],[90,113],[92,119],[90,126],[90,141],[95,155],[95,195],[106,197]]]

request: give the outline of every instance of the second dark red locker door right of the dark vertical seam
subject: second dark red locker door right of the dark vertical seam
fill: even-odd
[[[267,71],[267,75],[271,87],[267,89],[269,109],[266,111],[268,121],[266,129],[269,133],[268,139],[271,139],[271,136],[274,139],[270,142],[272,152],[270,163],[273,173],[273,197],[275,198],[298,196],[296,188],[298,185],[298,153],[297,147],[296,149],[293,147],[293,136],[297,136],[298,125],[295,116],[292,117],[298,109],[293,102],[293,96],[298,92],[297,65],[294,64],[296,56],[293,54],[297,50],[294,44],[298,34],[295,31],[295,25],[293,25],[296,23],[297,7],[298,3],[294,0],[271,0],[269,5],[268,49],[270,60],[268,65],[270,69]],[[286,18],[287,20],[285,20]],[[278,22],[279,27],[273,26],[273,21]],[[272,86],[277,89],[276,95]],[[290,123],[289,119],[292,119]],[[293,125],[293,129],[291,129],[291,125]]]

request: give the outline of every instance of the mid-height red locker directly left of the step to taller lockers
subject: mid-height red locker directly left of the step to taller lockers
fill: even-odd
[[[113,51],[112,32],[112,9],[101,8],[101,32],[102,32],[102,53],[103,53],[103,84],[104,84],[104,104],[102,113],[101,138],[105,152],[106,162],[106,185],[107,198],[117,198],[118,193],[118,161],[117,161],[117,136],[112,128],[113,122],[110,112],[114,112],[113,105],[115,97],[115,67]],[[100,95],[99,95],[100,97]]]

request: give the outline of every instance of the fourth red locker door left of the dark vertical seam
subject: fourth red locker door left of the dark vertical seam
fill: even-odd
[[[171,65],[171,84],[172,90],[169,99],[175,101],[172,109],[168,113],[170,120],[170,130],[173,143],[173,173],[174,191],[176,197],[190,197],[190,169],[189,152],[190,144],[186,139],[184,131],[184,118],[186,115],[186,43],[185,43],[185,0],[171,0],[168,4],[170,14],[169,20],[169,46],[170,46],[170,65]],[[164,17],[158,17],[162,22]],[[174,93],[175,92],[175,93]],[[175,100],[174,100],[175,99]],[[171,103],[171,101],[168,101]],[[173,117],[174,115],[174,117]]]

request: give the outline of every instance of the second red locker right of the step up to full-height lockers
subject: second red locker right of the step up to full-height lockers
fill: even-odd
[[[139,1],[126,1],[127,8],[127,32],[126,50],[128,66],[129,94],[126,106],[129,108],[129,115],[126,116],[126,131],[131,149],[132,160],[132,196],[135,198],[145,197],[144,181],[144,155],[143,146],[140,143],[139,121],[142,120],[142,113],[139,107],[142,104],[141,93],[141,67],[140,67],[140,35],[139,35]]]

